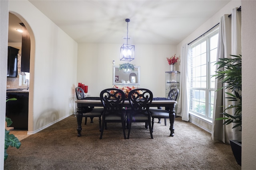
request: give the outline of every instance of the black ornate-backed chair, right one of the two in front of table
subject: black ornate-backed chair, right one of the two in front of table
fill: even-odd
[[[128,100],[131,105],[131,109],[127,110],[127,122],[128,122],[128,136],[130,137],[130,131],[132,128],[133,122],[145,122],[145,128],[150,131],[151,139],[153,139],[152,135],[152,127],[151,127],[151,115],[149,112],[150,104],[153,100],[153,94],[150,90],[145,88],[138,88],[131,90],[128,94]]]

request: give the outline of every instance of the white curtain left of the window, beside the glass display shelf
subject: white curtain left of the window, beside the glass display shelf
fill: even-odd
[[[190,45],[183,45],[181,47],[180,57],[180,98],[178,107],[178,115],[182,117],[182,120],[189,121],[189,101],[190,101]]]

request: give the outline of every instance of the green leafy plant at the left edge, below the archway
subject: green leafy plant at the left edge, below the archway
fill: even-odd
[[[16,98],[10,98],[7,99],[6,102],[8,102],[9,100],[17,100]],[[5,121],[7,123],[7,126],[10,126],[12,124],[12,120],[8,117],[5,118]],[[13,134],[9,134],[10,131],[7,131],[5,129],[5,137],[4,137],[4,160],[6,160],[8,158],[8,154],[7,154],[7,149],[9,146],[11,147],[16,147],[17,149],[20,148],[20,141],[17,137],[15,137]]]

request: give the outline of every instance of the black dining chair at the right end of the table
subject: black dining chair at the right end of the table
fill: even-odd
[[[172,88],[168,93],[168,99],[177,100],[179,94],[178,88]],[[149,109],[152,117],[152,129],[154,127],[154,118],[158,118],[158,123],[161,123],[160,119],[164,119],[164,125],[166,126],[166,119],[169,118],[170,108],[165,109]]]

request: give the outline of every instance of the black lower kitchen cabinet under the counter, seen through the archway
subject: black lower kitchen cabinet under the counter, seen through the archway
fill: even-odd
[[[6,102],[6,117],[12,120],[14,130],[28,130],[28,92],[7,92],[6,99],[16,98]]]

